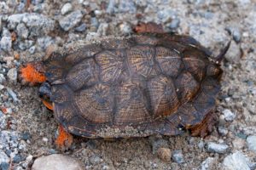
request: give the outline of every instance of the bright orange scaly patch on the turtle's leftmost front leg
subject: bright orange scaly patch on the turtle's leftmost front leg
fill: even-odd
[[[20,77],[25,82],[30,82],[32,84],[38,84],[46,81],[44,73],[38,72],[35,68],[36,64],[28,63],[25,67],[20,69]]]

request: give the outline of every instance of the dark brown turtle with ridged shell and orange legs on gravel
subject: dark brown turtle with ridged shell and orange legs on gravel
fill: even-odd
[[[69,147],[73,135],[204,137],[211,131],[230,42],[213,57],[193,37],[166,33],[152,23],[136,30],[52,52],[20,68],[22,84],[40,85],[40,98],[60,124],[58,147]]]

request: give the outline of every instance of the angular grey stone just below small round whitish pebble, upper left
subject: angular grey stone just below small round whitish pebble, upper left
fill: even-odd
[[[71,14],[63,17],[59,20],[60,26],[64,31],[71,30],[74,26],[79,24],[83,17],[83,14],[80,10],[73,11]]]

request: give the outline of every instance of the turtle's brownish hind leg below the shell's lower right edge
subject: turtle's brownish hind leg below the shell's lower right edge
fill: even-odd
[[[200,136],[201,138],[206,137],[208,133],[212,132],[212,128],[216,124],[217,118],[216,114],[209,112],[200,124],[189,127],[191,136]]]

